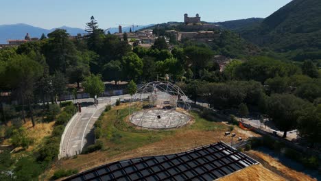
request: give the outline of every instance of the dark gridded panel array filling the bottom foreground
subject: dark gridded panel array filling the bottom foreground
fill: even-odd
[[[66,180],[215,180],[257,164],[224,143],[189,152],[112,162]]]

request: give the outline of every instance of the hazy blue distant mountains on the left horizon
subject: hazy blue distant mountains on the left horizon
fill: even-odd
[[[134,26],[132,30],[136,31],[139,29],[143,29],[145,27],[150,27],[152,25],[138,25]],[[34,27],[32,25],[27,25],[23,23],[14,24],[14,25],[0,25],[0,44],[6,44],[7,40],[10,39],[24,39],[25,35],[29,33],[29,36],[40,38],[42,34],[49,34],[50,32],[53,32],[55,29],[66,29],[69,34],[72,36],[75,36],[77,34],[84,34],[84,29],[76,28],[76,27],[57,27],[53,29],[44,29],[41,27]],[[111,34],[114,34],[115,32],[118,32],[118,27],[112,27],[108,29],[108,31]],[[130,27],[123,27],[123,32],[130,32]],[[107,32],[106,32],[107,33]]]

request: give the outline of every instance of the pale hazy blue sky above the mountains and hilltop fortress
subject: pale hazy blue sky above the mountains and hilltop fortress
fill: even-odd
[[[95,16],[99,27],[182,21],[183,14],[202,21],[266,17],[291,0],[0,0],[0,25],[27,23],[44,28],[81,27]]]

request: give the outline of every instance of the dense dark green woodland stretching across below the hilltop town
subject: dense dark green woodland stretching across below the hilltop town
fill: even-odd
[[[104,91],[102,81],[142,84],[165,80],[166,75],[194,101],[206,101],[221,110],[260,112],[284,131],[284,136],[297,128],[311,147],[320,143],[321,75],[316,62],[278,59],[278,53],[252,45],[228,30],[219,30],[219,38],[209,44],[189,40],[167,44],[165,29],[155,29],[159,38],[152,48],[132,47],[126,34],[123,40],[105,34],[91,17],[84,39],[71,39],[64,29],[56,29],[39,41],[1,49],[0,90],[11,93],[10,101],[17,102],[1,106],[4,137],[12,137],[13,145],[27,148],[30,141],[21,128],[25,117],[30,117],[33,125],[37,123],[34,117],[56,120],[56,127],[46,146],[27,157],[15,160],[8,153],[0,154],[0,167],[15,164],[15,180],[32,180],[57,158],[59,136],[75,112],[70,105],[60,112],[56,105],[65,93],[74,95],[84,88],[94,97]],[[215,55],[233,60],[220,71]],[[67,89],[67,84],[78,88]],[[246,111],[242,112],[241,116],[246,116]],[[0,173],[0,180],[10,179]]]

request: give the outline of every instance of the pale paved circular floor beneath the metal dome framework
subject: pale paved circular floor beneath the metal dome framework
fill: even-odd
[[[178,128],[189,122],[189,115],[176,110],[148,109],[134,112],[130,122],[149,129]]]

